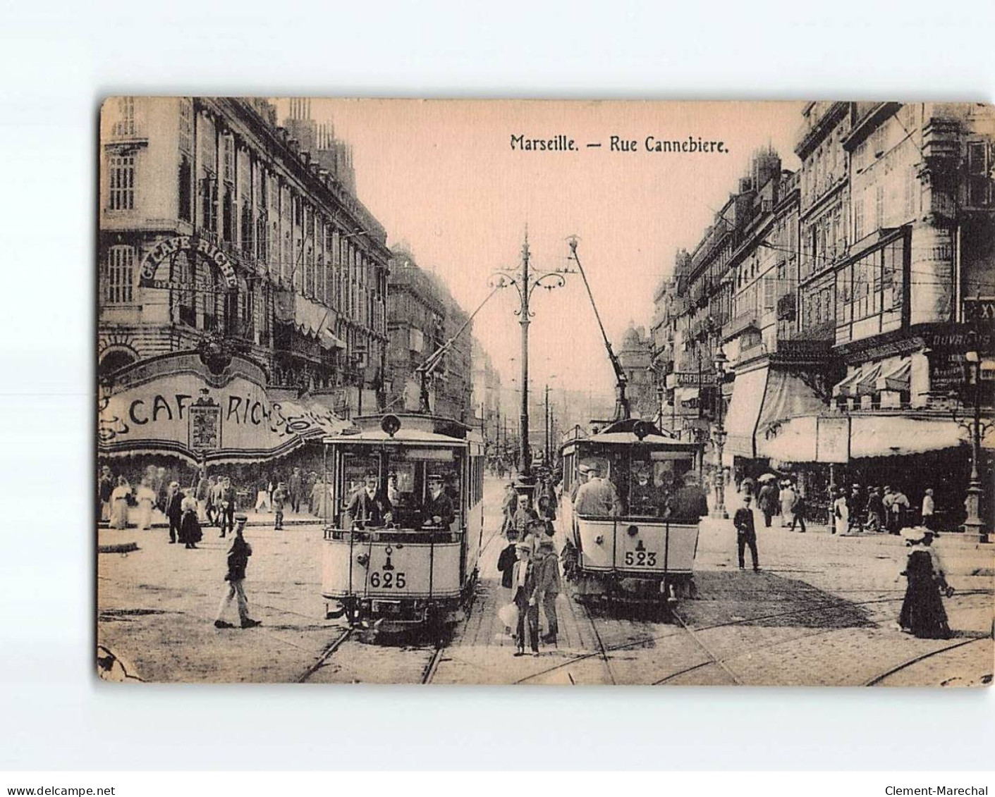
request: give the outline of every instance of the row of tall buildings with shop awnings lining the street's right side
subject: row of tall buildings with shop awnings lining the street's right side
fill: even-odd
[[[714,440],[720,408],[736,478],[790,472],[817,513],[851,482],[900,487],[913,506],[931,487],[955,528],[972,464],[992,479],[995,439],[972,445],[970,422],[975,403],[991,416],[995,376],[992,110],[813,102],[802,121],[798,172],[758,153],[661,280],[662,422]],[[991,514],[989,491],[989,528]]]

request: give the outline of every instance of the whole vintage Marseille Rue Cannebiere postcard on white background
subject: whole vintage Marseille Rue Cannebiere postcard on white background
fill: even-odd
[[[985,686],[995,108],[115,96],[97,670]]]

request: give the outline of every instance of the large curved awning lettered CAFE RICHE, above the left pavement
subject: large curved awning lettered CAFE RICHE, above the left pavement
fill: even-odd
[[[346,425],[316,404],[271,399],[264,382],[262,369],[242,358],[217,375],[190,353],[126,368],[100,396],[100,454],[265,461]]]

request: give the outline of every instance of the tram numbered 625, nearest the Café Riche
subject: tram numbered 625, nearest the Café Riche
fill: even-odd
[[[354,433],[324,440],[326,617],[344,614],[378,632],[458,622],[473,597],[484,529],[480,433],[422,413],[354,421]],[[389,512],[363,519],[353,498],[367,487]],[[440,501],[451,513],[433,508]]]

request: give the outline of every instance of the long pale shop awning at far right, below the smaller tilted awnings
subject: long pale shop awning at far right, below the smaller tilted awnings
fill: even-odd
[[[946,418],[914,418],[905,415],[853,414],[850,427],[850,457],[923,454],[953,448],[966,440],[966,432]]]

